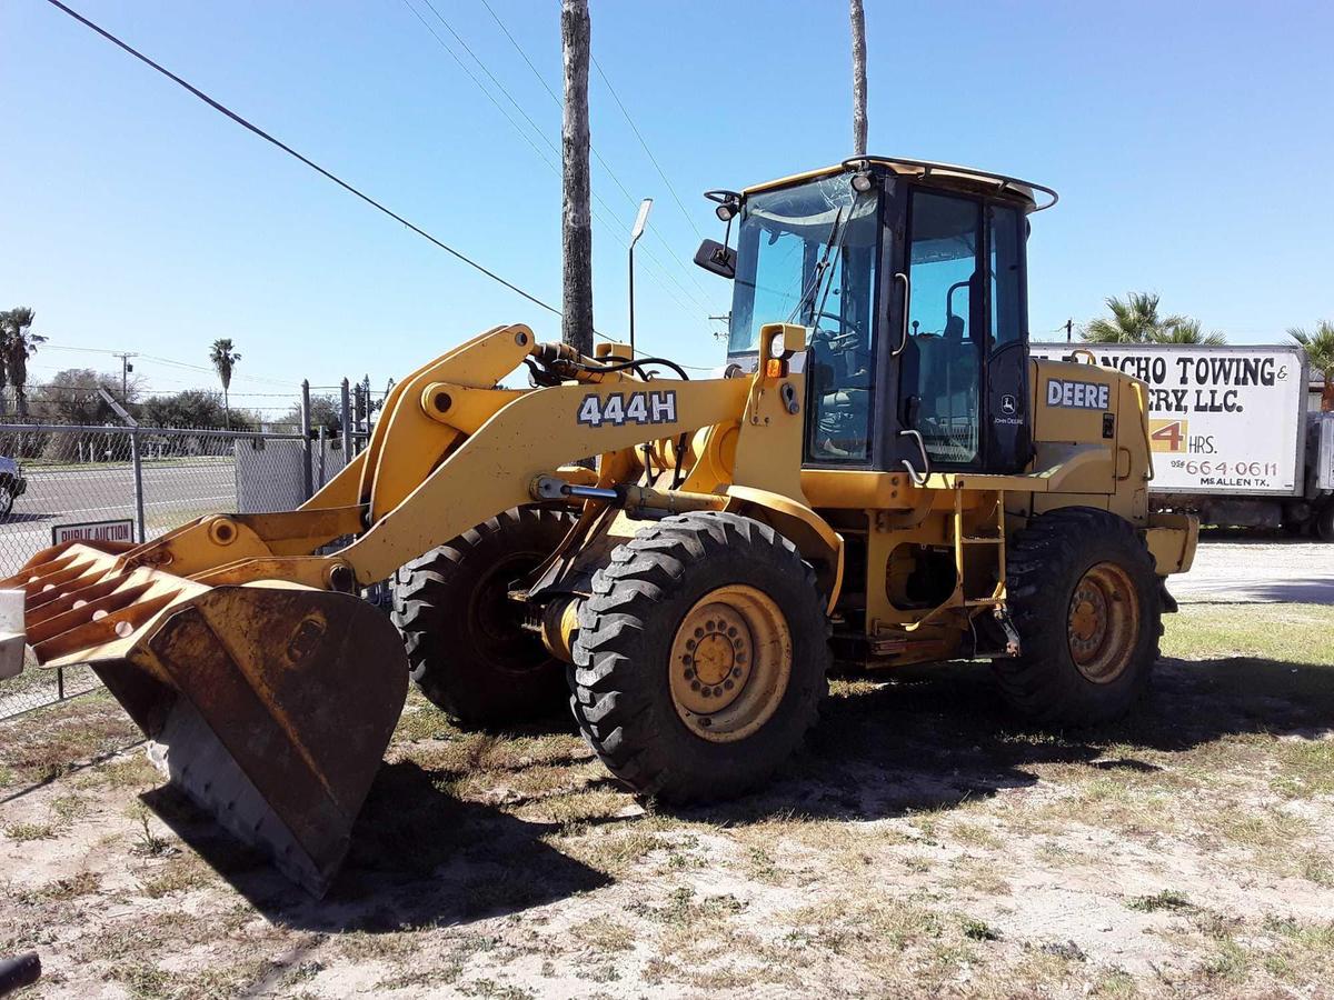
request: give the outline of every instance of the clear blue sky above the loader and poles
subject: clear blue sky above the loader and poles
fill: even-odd
[[[446,243],[559,303],[559,108],[482,0],[436,9],[544,129],[496,109],[408,9],[472,67],[424,0],[72,5]],[[558,0],[491,0],[560,89]],[[1157,289],[1234,343],[1334,316],[1329,3],[866,0],[872,152],[1055,187],[1034,219],[1031,329]],[[137,351],[207,365],[232,337],[237,403],[376,385],[496,323],[559,321],[256,140],[43,0],[0,4],[0,304],[52,339],[32,380]],[[628,231],[643,347],[715,364],[730,287],[688,261],[720,225],[699,197],[843,159],[842,0],[592,0],[598,327],[624,329]],[[531,140],[531,144],[530,144]],[[687,216],[688,213],[688,216]],[[656,257],[656,260],[654,260]],[[207,372],[140,360],[152,391]],[[244,393],[253,393],[244,397]]]

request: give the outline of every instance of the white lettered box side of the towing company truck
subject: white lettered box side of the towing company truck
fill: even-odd
[[[1034,357],[1098,364],[1149,385],[1155,493],[1299,493],[1306,355],[1297,347],[1033,344]]]

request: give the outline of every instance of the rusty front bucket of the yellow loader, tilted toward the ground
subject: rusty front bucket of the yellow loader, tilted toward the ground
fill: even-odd
[[[209,588],[161,571],[105,571],[107,559],[83,549],[72,583],[60,584],[60,568],[28,577],[37,657],[88,663],[171,783],[321,896],[407,695],[398,631],[347,593]]]

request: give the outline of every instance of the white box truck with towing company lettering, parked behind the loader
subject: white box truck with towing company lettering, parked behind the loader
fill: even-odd
[[[1033,344],[1031,352],[1095,360],[1145,381],[1155,509],[1334,541],[1334,413],[1319,412],[1301,347]]]

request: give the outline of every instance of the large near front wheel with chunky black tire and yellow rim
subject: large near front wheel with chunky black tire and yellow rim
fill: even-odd
[[[742,795],[802,744],[828,691],[815,575],[772,528],[666,517],[616,547],[579,608],[571,708],[635,792]]]

